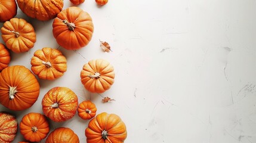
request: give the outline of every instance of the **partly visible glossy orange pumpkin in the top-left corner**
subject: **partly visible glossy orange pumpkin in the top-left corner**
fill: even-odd
[[[0,0],[0,22],[10,20],[17,14],[15,0]]]

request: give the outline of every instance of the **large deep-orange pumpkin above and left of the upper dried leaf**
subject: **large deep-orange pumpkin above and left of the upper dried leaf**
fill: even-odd
[[[53,36],[66,49],[79,49],[92,38],[94,26],[91,16],[78,7],[69,7],[58,13],[53,21]]]

